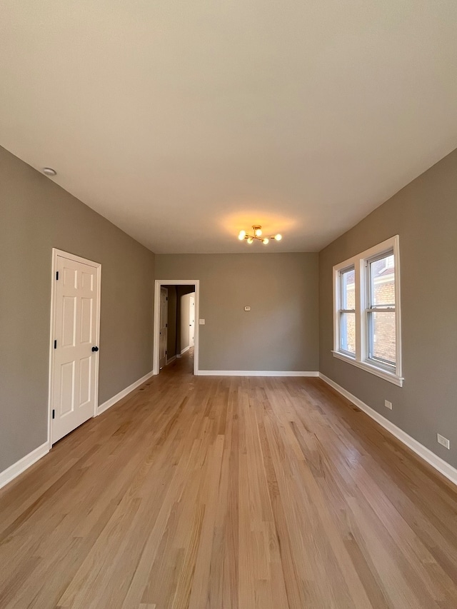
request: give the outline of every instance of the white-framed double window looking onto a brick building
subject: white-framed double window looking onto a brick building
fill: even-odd
[[[333,355],[402,386],[398,236],[333,267]]]

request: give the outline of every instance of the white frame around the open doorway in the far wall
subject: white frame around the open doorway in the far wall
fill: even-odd
[[[199,318],[199,280],[198,279],[156,279],[155,290],[154,290],[154,364],[153,371],[154,374],[159,374],[159,370],[161,368],[160,365],[160,326],[161,326],[161,293],[162,288],[166,288],[166,286],[176,286],[179,289],[180,286],[189,286],[189,288],[194,287],[194,293],[192,294],[194,298],[194,374],[198,375],[199,373],[199,325],[196,323],[196,319]],[[190,321],[186,321],[186,328],[190,326]],[[190,338],[190,332],[189,332]],[[176,353],[177,355],[177,353]]]

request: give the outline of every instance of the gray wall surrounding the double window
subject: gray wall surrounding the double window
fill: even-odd
[[[396,234],[403,388],[331,355],[333,265]],[[457,151],[323,249],[319,263],[320,371],[457,466]],[[437,432],[451,451],[436,442]]]

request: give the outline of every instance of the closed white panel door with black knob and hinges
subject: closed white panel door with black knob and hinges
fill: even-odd
[[[95,265],[96,263],[94,263]],[[99,265],[56,257],[51,443],[95,414]]]

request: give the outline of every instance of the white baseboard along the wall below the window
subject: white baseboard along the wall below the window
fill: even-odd
[[[356,396],[353,396],[352,393],[346,391],[345,388],[332,381],[331,378],[325,376],[325,374],[319,373],[319,377],[327,383],[327,385],[333,387],[338,393],[341,393],[341,396],[347,398],[350,402],[355,404],[358,408],[361,409],[364,413],[370,416],[376,423],[379,423],[384,429],[389,431],[393,436],[395,436],[399,441],[403,442],[408,448],[411,448],[411,451],[416,453],[419,457],[423,458],[429,465],[438,470],[438,472],[442,473],[448,480],[451,480],[454,484],[457,484],[457,469],[452,465],[449,465],[444,459],[438,457],[435,453],[433,453],[429,448],[423,446],[420,442],[408,436],[408,433],[403,431],[403,429],[397,427],[394,423],[389,421],[387,418],[383,417],[377,411],[373,410],[366,403],[362,402]]]

